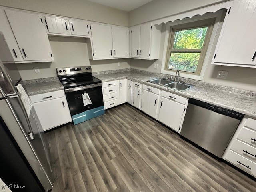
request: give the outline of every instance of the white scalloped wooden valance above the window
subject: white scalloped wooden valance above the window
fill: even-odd
[[[233,1],[228,1],[228,2],[224,2],[224,3],[208,6],[208,7],[205,7],[205,8],[200,8],[200,9],[184,12],[184,13],[181,13],[181,14],[168,16],[168,17],[165,17],[165,18],[154,20],[154,21],[152,21],[152,24],[153,25],[160,25],[162,23],[166,24],[167,22],[174,22],[175,20],[182,20],[184,18],[192,18],[193,16],[203,15],[203,14],[206,14],[208,12],[215,13],[220,9],[229,9],[232,2]]]

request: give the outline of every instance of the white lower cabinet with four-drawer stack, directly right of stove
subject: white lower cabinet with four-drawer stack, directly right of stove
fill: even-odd
[[[102,88],[105,109],[126,102],[126,79],[103,82]]]

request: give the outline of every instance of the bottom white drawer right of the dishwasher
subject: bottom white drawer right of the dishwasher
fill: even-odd
[[[226,160],[231,162],[238,168],[256,176],[256,164],[254,162],[244,158],[243,156],[230,150],[227,154]],[[249,168],[246,166],[249,166]]]

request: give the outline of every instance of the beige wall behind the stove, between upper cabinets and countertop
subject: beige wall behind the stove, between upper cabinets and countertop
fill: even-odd
[[[129,59],[89,60],[84,38],[49,36],[54,62],[16,64],[23,80],[56,77],[56,68],[92,66],[93,72],[130,68]],[[118,66],[121,62],[121,66]],[[40,73],[35,73],[38,67]]]

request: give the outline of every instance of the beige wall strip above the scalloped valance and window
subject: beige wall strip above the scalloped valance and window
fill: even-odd
[[[129,12],[129,26],[228,0],[153,0]]]

